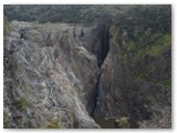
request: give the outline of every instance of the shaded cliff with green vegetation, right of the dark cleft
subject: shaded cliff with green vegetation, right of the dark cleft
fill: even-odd
[[[153,30],[111,28],[95,116],[126,116],[136,120],[139,127],[171,126],[171,37]]]

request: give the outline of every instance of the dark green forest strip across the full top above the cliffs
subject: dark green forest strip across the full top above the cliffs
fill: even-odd
[[[170,6],[118,6],[118,4],[61,4],[61,6],[4,6],[10,21],[67,22],[67,23],[117,23],[129,30],[135,25],[150,25],[169,30]],[[152,21],[153,20],[153,21]]]

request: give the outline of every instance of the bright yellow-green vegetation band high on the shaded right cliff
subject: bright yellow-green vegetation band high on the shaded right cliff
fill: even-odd
[[[156,34],[152,34],[152,37],[143,37],[143,41],[139,40],[128,40],[127,45],[126,45],[126,53],[133,52],[135,53],[134,59],[136,60],[137,58],[144,59],[146,55],[149,57],[158,57],[163,54],[165,51],[170,49],[171,45],[171,35],[166,33],[164,35],[160,35],[156,39],[153,39]],[[140,39],[139,37],[137,37]],[[154,40],[154,41],[152,41]]]

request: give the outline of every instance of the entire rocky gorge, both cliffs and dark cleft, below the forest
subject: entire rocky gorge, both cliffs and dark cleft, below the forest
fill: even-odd
[[[165,28],[12,21],[3,39],[3,126],[170,127]]]

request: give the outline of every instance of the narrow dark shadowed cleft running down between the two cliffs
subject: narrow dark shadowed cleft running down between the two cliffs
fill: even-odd
[[[96,24],[96,28],[93,29],[93,47],[90,52],[95,54],[100,71],[96,78],[97,82],[95,84],[95,89],[92,92],[92,98],[90,99],[86,105],[86,110],[91,116],[93,115],[93,112],[96,109],[101,68],[110,51],[110,25],[106,23]]]

